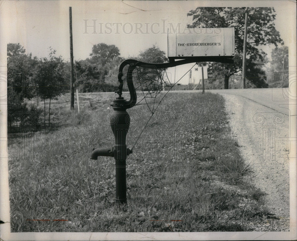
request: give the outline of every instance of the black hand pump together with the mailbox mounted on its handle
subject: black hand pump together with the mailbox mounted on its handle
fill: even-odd
[[[124,60],[119,67],[119,86],[115,91],[119,95],[111,104],[113,111],[110,115],[110,127],[115,137],[115,144],[111,148],[93,149],[90,158],[97,160],[98,156],[114,157],[116,160],[116,204],[125,204],[126,197],[126,158],[132,153],[127,148],[126,136],[130,125],[127,109],[132,108],[137,101],[137,95],[132,80],[132,73],[136,67],[149,69],[163,69],[181,64],[195,62],[233,63],[234,57],[234,29],[192,29],[193,35],[168,34],[168,63],[146,63],[135,59]],[[225,34],[227,32],[227,34]],[[191,37],[189,37],[191,36]],[[225,39],[229,38],[229,41]],[[216,42],[214,42],[214,39]],[[219,42],[223,41],[223,42]],[[225,44],[226,42],[226,44]],[[217,43],[217,44],[214,44]],[[221,43],[221,44],[218,44]],[[198,46],[199,45],[199,46]],[[200,48],[199,47],[203,47]],[[205,47],[205,48],[204,48]],[[213,47],[213,48],[212,48]],[[204,51],[203,51],[204,49]],[[209,50],[211,49],[211,50]],[[206,53],[205,53],[206,52]],[[211,53],[211,54],[207,54]],[[222,53],[222,55],[221,55]],[[182,59],[175,61],[175,59]],[[121,96],[123,89],[123,68],[129,65],[126,80],[130,93],[130,100]]]

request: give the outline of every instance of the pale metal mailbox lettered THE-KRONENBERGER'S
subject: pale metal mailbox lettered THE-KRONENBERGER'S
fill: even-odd
[[[234,28],[196,28],[186,29],[185,33],[168,33],[168,59],[233,58],[234,35]]]

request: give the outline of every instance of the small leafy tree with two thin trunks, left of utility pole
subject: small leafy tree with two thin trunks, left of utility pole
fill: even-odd
[[[58,96],[66,91],[64,78],[64,62],[61,56],[55,56],[56,51],[50,48],[49,58],[40,59],[32,77],[36,94],[43,100],[45,116],[45,100],[58,100]],[[48,126],[50,127],[50,102],[48,107]],[[45,126],[45,118],[44,118]]]

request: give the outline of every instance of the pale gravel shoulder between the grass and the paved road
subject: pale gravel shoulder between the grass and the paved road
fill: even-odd
[[[289,231],[289,118],[238,95],[222,96],[231,135],[253,170],[251,180],[267,194],[267,207],[279,218],[276,231]]]

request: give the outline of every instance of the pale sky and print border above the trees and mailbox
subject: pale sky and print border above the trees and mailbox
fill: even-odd
[[[244,4],[244,5],[243,5]],[[86,59],[94,44],[116,45],[122,57],[132,58],[140,51],[156,45],[167,55],[167,31],[183,31],[196,7],[274,7],[275,27],[285,45],[290,45],[288,23],[294,21],[296,4],[276,1],[1,1],[1,24],[5,27],[5,43],[20,43],[27,53],[46,57],[55,49],[65,61],[69,51],[69,7],[72,7],[74,60]],[[288,19],[288,16],[289,19]],[[295,19],[296,21],[296,19]],[[296,30],[295,30],[296,31]],[[270,57],[273,46],[265,46]],[[3,53],[3,51],[2,51]],[[177,67],[184,73],[189,65]],[[180,76],[177,76],[180,78]]]

